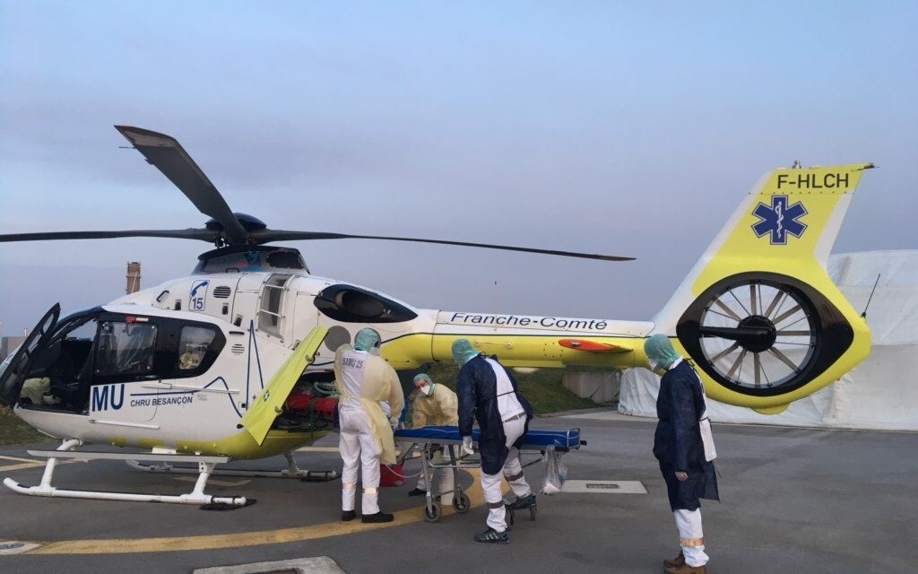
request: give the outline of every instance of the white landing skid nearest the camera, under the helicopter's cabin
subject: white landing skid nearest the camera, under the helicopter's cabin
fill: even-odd
[[[249,501],[244,496],[211,496],[204,493],[207,478],[214,471],[217,464],[229,462],[227,456],[191,456],[191,455],[157,455],[157,454],[120,454],[120,453],[90,453],[76,452],[73,449],[83,445],[79,439],[69,439],[63,442],[54,451],[30,450],[31,456],[47,456],[45,472],[41,476],[39,486],[25,486],[12,478],[4,478],[6,488],[19,494],[28,496],[47,496],[52,498],[90,499],[96,501],[131,501],[131,502],[169,502],[173,504],[197,505],[226,505],[231,507],[247,506]],[[134,492],[106,492],[104,490],[62,490],[51,486],[54,478],[54,468],[58,458],[72,458],[78,460],[114,459],[114,460],[161,460],[163,462],[189,461],[197,463],[197,481],[195,488],[188,494],[140,494]]]

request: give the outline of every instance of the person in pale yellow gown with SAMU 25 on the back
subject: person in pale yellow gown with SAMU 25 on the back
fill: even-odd
[[[338,413],[341,424],[341,520],[356,516],[357,467],[363,464],[364,495],[361,513],[364,523],[392,522],[392,514],[379,510],[379,465],[396,463],[396,446],[392,429],[398,418],[387,419],[380,402],[388,403],[391,412],[405,406],[401,385],[395,370],[371,351],[379,344],[379,335],[362,329],[353,347],[343,344],[335,352],[335,386],[338,389]]]

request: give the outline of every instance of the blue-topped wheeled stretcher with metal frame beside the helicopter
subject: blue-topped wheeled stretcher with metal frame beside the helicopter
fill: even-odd
[[[453,473],[453,511],[458,514],[465,514],[472,505],[468,495],[465,494],[465,489],[459,481],[459,471],[465,468],[481,468],[481,456],[477,454],[456,456],[456,451],[462,446],[463,441],[462,439],[450,438],[446,435],[445,429],[447,428],[456,429],[456,427],[422,427],[420,429],[396,431],[394,437],[401,450],[401,454],[397,459],[397,464],[403,465],[405,460],[414,451],[415,447],[418,447],[420,451],[420,472],[424,477],[425,484],[427,484],[427,493],[424,496],[424,520],[429,523],[440,522],[442,518],[442,505],[439,499],[443,494],[446,494],[445,492],[434,492],[435,489],[439,488],[439,481],[438,485],[434,486],[433,476],[436,470],[443,469],[444,471]],[[431,435],[419,436],[418,432],[424,431],[425,429],[429,429]],[[536,433],[543,432],[536,431]],[[554,450],[558,452],[569,452],[570,450],[579,449],[581,445],[587,445],[587,441],[580,440],[579,427],[568,429],[567,431],[553,431],[551,433],[557,433],[556,435],[564,433],[565,445],[527,445],[524,439],[520,447],[520,463],[523,468],[532,467],[532,465],[543,460],[545,452],[549,448],[554,448]],[[477,438],[478,430],[476,429],[472,434],[473,445],[475,445],[476,450],[478,447]],[[438,464],[433,461],[433,456],[440,448],[443,450],[444,462]],[[449,454],[448,460],[446,459],[447,453]],[[532,459],[524,461],[523,453],[533,455]],[[538,453],[538,456],[534,456],[535,453]],[[535,507],[529,510],[530,519],[535,520]],[[513,512],[509,509],[508,514],[509,523],[512,524],[515,517]]]

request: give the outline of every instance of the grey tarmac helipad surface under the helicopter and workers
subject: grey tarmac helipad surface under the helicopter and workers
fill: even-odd
[[[0,556],[0,572],[191,572],[248,562],[328,556],[351,574],[381,572],[660,572],[677,553],[666,491],[644,420],[543,418],[535,428],[579,426],[588,446],[565,456],[568,478],[640,481],[647,494],[597,492],[539,497],[536,522],[522,518],[509,546],[483,546],[478,504],[425,523],[409,484],[384,489],[387,525],[340,523],[339,481],[216,478],[211,494],[258,500],[232,512],[140,502],[33,498],[0,487],[0,540],[38,543]],[[703,507],[709,571],[717,573],[898,573],[918,552],[918,433],[815,431],[716,425],[722,502]],[[334,446],[337,436],[319,446]],[[0,477],[36,484],[26,447],[0,449]],[[24,459],[24,460],[23,460]],[[301,467],[340,469],[330,449],[297,454]],[[245,463],[283,467],[283,458]],[[406,470],[416,471],[416,463]],[[527,469],[539,488],[543,466]],[[180,479],[182,478],[182,479]],[[116,461],[59,467],[55,486],[180,494],[186,477],[131,470]],[[465,477],[471,485],[472,476]],[[472,491],[473,503],[480,495]],[[2,546],[2,543],[0,543]]]

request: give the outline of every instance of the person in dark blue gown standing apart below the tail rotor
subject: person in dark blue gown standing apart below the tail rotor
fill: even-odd
[[[656,334],[644,343],[651,370],[666,371],[656,399],[654,456],[666,480],[669,507],[676,518],[682,551],[664,561],[666,574],[704,574],[708,555],[701,531],[700,499],[719,500],[712,453],[705,456],[700,421],[705,418],[704,388],[695,369],[676,353],[669,338]],[[710,450],[712,451],[712,443]]]

